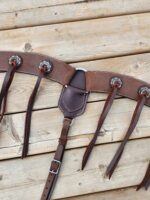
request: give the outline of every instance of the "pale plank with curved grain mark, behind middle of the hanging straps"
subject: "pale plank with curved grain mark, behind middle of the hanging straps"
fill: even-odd
[[[89,144],[104,102],[89,103],[84,115],[78,117],[69,132],[67,149]],[[123,139],[129,126],[136,103],[127,99],[115,100],[101,130],[97,144],[111,143]],[[149,137],[150,112],[145,107],[132,139]],[[0,129],[0,159],[20,157],[22,152],[25,114],[5,116]],[[56,150],[63,115],[58,108],[33,112],[29,154]]]

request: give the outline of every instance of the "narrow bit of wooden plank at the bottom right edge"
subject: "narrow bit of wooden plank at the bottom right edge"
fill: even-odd
[[[136,191],[136,188],[125,188],[115,191],[107,191],[102,193],[88,194],[80,197],[70,197],[63,200],[149,200],[150,190]]]

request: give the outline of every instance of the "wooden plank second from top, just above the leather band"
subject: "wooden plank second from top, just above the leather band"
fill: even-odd
[[[40,52],[67,62],[149,52],[149,18],[147,13],[1,31],[0,50]]]

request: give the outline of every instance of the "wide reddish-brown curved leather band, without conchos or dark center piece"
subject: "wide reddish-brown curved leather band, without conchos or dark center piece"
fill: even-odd
[[[59,61],[49,56],[35,54],[35,53],[23,53],[23,52],[0,52],[0,71],[6,72],[9,68],[8,59],[12,55],[19,55],[22,57],[23,64],[20,68],[17,69],[19,73],[31,74],[38,76],[38,66],[39,63],[43,60],[50,61],[54,69],[45,78],[56,81],[62,85],[67,85],[75,69],[70,65],[66,64],[63,61]],[[86,91],[88,92],[109,92],[109,80],[114,77],[120,77],[124,82],[123,87],[119,91],[118,95],[127,97],[133,100],[138,100],[137,91],[141,86],[150,87],[150,84],[135,79],[131,76],[126,76],[118,73],[105,72],[105,71],[88,71],[86,72]],[[150,106],[150,99],[145,103],[147,106]]]

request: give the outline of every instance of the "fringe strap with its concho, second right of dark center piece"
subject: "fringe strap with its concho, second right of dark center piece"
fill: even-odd
[[[129,139],[129,137],[131,136],[132,132],[134,131],[134,128],[136,127],[136,124],[138,123],[140,114],[142,112],[143,106],[146,103],[146,101],[150,98],[150,89],[148,87],[141,87],[139,90],[139,101],[137,103],[137,106],[135,108],[130,126],[128,128],[128,131],[124,137],[123,142],[121,143],[121,145],[119,146],[115,156],[113,157],[112,161],[110,162],[107,171],[106,171],[106,175],[109,176],[109,178],[111,178],[120,158],[121,155],[124,151],[125,145]]]

